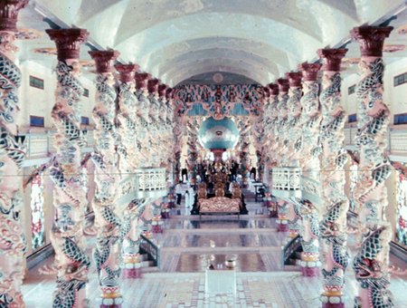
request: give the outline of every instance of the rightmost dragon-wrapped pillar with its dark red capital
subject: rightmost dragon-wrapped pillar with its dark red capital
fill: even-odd
[[[388,290],[389,242],[392,227],[385,217],[388,205],[385,180],[391,168],[386,158],[387,127],[390,111],[383,101],[383,42],[393,27],[361,26],[352,37],[359,43],[361,81],[357,84],[356,147],[360,152],[359,180],[355,187],[360,208],[362,245],[355,255],[354,270],[360,283],[355,303],[361,307],[393,307]]]

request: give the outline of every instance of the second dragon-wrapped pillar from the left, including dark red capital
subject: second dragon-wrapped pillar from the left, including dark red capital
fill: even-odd
[[[46,33],[58,50],[58,83],[52,109],[56,156],[50,168],[55,207],[51,241],[58,269],[53,307],[81,307],[85,304],[90,258],[85,254],[83,236],[86,197],[80,185],[80,148],[86,141],[80,130],[84,90],[78,75],[80,43],[89,33],[83,29],[49,29]]]

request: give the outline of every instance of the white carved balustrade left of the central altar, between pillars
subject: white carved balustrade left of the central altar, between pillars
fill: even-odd
[[[166,168],[139,168],[119,182],[118,204],[166,196]]]

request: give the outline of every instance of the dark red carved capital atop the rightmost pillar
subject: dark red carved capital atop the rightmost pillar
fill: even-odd
[[[362,56],[381,57],[384,39],[389,37],[392,30],[391,26],[360,26],[353,28],[350,34],[359,43]]]

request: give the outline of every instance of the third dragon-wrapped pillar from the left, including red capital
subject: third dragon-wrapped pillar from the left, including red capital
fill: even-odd
[[[96,105],[93,109],[95,121],[95,152],[91,159],[95,164],[96,193],[93,199],[95,226],[98,230],[96,248],[93,252],[101,289],[100,307],[120,307],[122,297],[118,284],[120,276],[120,226],[121,219],[115,202],[118,176],[118,154],[116,141],[116,90],[111,63],[118,52],[90,52],[95,60]]]

